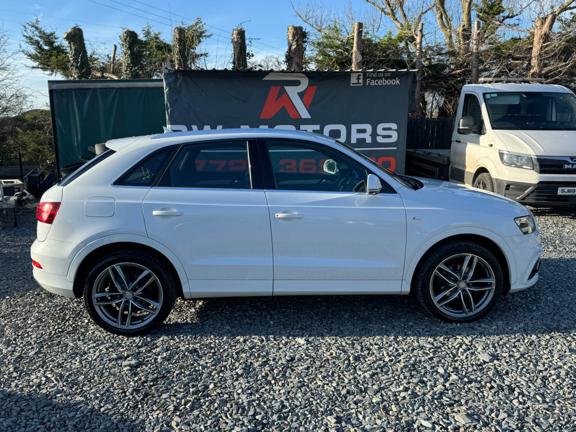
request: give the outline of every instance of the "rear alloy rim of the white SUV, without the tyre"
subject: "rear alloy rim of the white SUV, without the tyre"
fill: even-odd
[[[135,263],[113,264],[94,281],[94,309],[107,324],[122,329],[142,327],[160,311],[162,285],[148,268]]]

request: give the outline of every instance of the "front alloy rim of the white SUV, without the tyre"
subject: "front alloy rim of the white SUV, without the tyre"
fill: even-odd
[[[435,306],[454,318],[472,316],[486,308],[495,287],[490,265],[468,253],[445,259],[430,278],[430,295]]]

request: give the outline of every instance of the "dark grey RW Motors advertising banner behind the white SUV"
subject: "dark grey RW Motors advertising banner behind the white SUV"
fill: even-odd
[[[164,74],[173,131],[276,128],[342,141],[404,173],[411,71],[174,71]]]

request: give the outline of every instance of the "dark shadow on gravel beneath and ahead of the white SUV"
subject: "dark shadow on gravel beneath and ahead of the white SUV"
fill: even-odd
[[[576,259],[544,259],[532,288],[502,297],[475,323],[432,317],[405,295],[238,297],[179,301],[169,321],[150,336],[449,336],[541,335],[576,328]],[[561,294],[564,301],[558,301]],[[191,310],[192,309],[192,313]]]

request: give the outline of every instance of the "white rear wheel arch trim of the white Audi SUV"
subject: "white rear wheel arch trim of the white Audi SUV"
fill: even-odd
[[[183,290],[184,287],[188,284],[188,276],[184,271],[184,266],[180,263],[180,260],[174,255],[170,249],[166,248],[161,243],[157,242],[156,240],[152,240],[149,237],[138,236],[137,234],[113,234],[111,236],[105,236],[97,238],[89,242],[85,245],[84,248],[80,249],[80,251],[74,256],[74,259],[70,263],[70,267],[68,268],[67,278],[70,282],[74,282],[74,278],[76,276],[76,272],[78,271],[78,267],[84,260],[86,256],[92,251],[95,251],[97,248],[100,248],[104,245],[113,244],[113,243],[120,243],[120,242],[131,242],[131,243],[138,243],[149,246],[156,251],[160,252],[162,255],[166,257],[172,263],[178,277],[180,278],[180,282],[182,283]],[[184,291],[184,294],[185,291]]]

